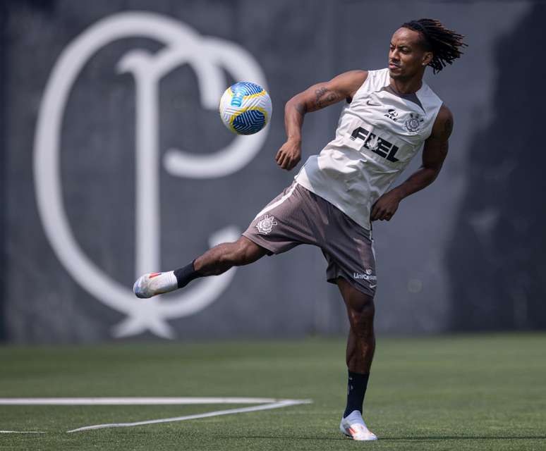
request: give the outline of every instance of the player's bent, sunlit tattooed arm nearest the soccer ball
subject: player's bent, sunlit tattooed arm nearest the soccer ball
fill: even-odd
[[[317,83],[286,102],[284,126],[287,140],[275,156],[275,161],[281,168],[290,171],[301,159],[301,127],[305,113],[345,99],[350,101],[367,77],[368,72],[365,70],[351,70],[337,75],[329,82]]]

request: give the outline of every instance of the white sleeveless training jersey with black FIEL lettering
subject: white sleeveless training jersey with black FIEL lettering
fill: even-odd
[[[397,94],[389,82],[388,68],[368,72],[335,139],[295,177],[367,230],[372,205],[423,148],[442,106],[425,82],[414,94]]]

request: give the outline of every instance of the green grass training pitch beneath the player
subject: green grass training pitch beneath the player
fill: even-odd
[[[0,405],[0,450],[546,450],[546,335],[379,338],[365,420],[339,433],[344,340],[0,347],[0,397],[310,399],[262,412],[66,431],[255,404]]]

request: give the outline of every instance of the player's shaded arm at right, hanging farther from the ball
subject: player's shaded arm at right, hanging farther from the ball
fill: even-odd
[[[408,180],[383,194],[372,208],[372,221],[390,221],[404,197],[423,190],[437,178],[447,156],[448,140],[453,130],[453,116],[447,106],[442,105],[436,117],[432,133],[425,141],[423,164]]]

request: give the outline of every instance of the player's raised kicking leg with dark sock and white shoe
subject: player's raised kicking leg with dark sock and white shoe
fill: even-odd
[[[192,280],[205,276],[218,276],[233,266],[253,263],[267,253],[267,250],[240,237],[236,242],[224,242],[212,247],[183,268],[166,273],[149,273],[140,276],[133,291],[137,297],[148,298],[183,288]]]

